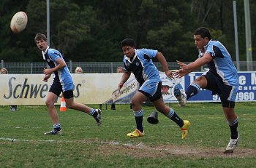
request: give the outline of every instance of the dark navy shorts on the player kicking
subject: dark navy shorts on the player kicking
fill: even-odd
[[[218,95],[222,102],[222,107],[234,108],[235,102],[228,100],[233,87],[224,84],[221,77],[214,75],[214,73],[211,73],[210,71],[203,74],[203,76],[205,76],[207,80],[207,86],[203,89],[211,90],[211,95]]]

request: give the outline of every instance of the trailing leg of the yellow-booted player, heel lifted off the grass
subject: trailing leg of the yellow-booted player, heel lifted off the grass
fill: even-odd
[[[188,134],[187,128],[190,125],[189,121],[181,119],[178,116],[178,114],[175,111],[173,111],[173,108],[170,108],[167,105],[165,105],[165,102],[162,97],[159,98],[158,100],[154,100],[152,103],[154,104],[157,111],[163,113],[165,116],[167,116],[167,118],[176,122],[178,127],[181,128],[181,139],[182,140],[185,139]]]

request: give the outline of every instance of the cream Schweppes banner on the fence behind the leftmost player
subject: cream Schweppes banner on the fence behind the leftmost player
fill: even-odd
[[[112,93],[117,89],[121,75],[122,73],[72,74],[75,101],[102,104],[112,100]],[[42,81],[43,76],[44,74],[1,74],[0,105],[45,105],[53,78],[51,76],[45,82]],[[60,98],[57,104],[61,103]]]

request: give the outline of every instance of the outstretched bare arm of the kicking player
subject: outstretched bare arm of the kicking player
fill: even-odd
[[[197,68],[206,65],[206,63],[210,63],[212,59],[213,57],[211,57],[209,53],[206,53],[205,55],[203,55],[203,57],[197,58],[197,60],[189,64],[185,64],[177,60],[176,62],[178,63],[180,69],[176,71],[174,75],[178,78],[181,78],[182,76],[185,76],[188,73],[195,71]]]

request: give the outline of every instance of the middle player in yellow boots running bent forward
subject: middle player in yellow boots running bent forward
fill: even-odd
[[[124,73],[118,84],[118,89],[120,90],[121,87],[123,87],[131,73],[135,75],[135,78],[140,84],[138,92],[132,97],[132,111],[137,127],[134,132],[127,134],[127,136],[142,137],[145,135],[141,104],[146,100],[150,100],[157,111],[163,113],[178,124],[178,127],[181,128],[181,139],[186,138],[187,127],[189,127],[190,123],[187,120],[180,119],[177,113],[173,111],[173,108],[165,105],[161,92],[162,81],[159,76],[159,71],[152,61],[152,58],[157,58],[164,68],[166,76],[173,78],[173,74],[168,68],[165,57],[157,50],[135,49],[135,41],[133,39],[124,39],[121,41],[121,49],[124,52]]]

